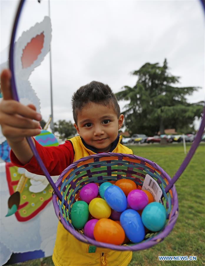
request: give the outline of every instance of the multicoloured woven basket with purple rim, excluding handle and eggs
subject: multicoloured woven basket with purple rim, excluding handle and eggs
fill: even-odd
[[[102,184],[106,181],[130,179],[142,185],[146,174],[154,178],[162,189],[162,202],[166,208],[166,225],[160,232],[147,233],[145,240],[137,244],[114,245],[98,242],[76,230],[70,219],[72,204],[79,197],[80,189],[87,183]],[[59,176],[56,186],[62,194],[62,201],[53,192],[52,200],[55,213],[63,226],[82,242],[114,250],[147,249],[162,241],[173,229],[178,217],[178,199],[175,186],[166,193],[165,187],[171,181],[170,176],[156,163],[136,155],[122,153],[100,153],[90,155],[68,166]]]

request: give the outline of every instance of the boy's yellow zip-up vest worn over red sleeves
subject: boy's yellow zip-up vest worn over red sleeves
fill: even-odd
[[[122,136],[119,137],[112,152],[133,154],[132,150],[120,144],[121,139]],[[75,152],[73,162],[82,157],[96,154],[85,147],[80,136],[73,137],[70,141]],[[89,253],[90,251],[95,252]],[[59,222],[52,259],[55,266],[126,266],[132,259],[132,252],[114,251],[85,244],[70,234]]]

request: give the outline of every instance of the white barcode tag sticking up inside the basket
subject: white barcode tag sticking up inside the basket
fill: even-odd
[[[150,175],[146,174],[145,180],[142,186],[142,190],[147,190],[149,191],[154,200],[159,202],[162,196],[162,190],[159,184],[157,183],[156,180],[154,180]]]

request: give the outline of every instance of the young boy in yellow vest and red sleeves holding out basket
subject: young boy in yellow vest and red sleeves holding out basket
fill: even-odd
[[[0,105],[2,132],[11,147],[11,161],[29,172],[43,174],[25,139],[40,133],[41,115],[33,105],[23,106],[11,100],[10,72],[1,74],[3,100]],[[116,152],[132,154],[132,150],[120,144],[118,130],[124,116],[108,85],[92,81],[80,87],[72,97],[73,118],[79,136],[65,141],[58,147],[42,147],[33,139],[34,145],[50,175],[59,175],[72,162],[91,154]],[[34,120],[35,121],[34,121]],[[53,252],[54,265],[128,265],[130,251],[113,251],[96,248],[89,253],[89,245],[75,239],[59,222]]]

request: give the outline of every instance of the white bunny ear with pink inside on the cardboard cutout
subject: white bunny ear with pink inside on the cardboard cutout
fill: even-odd
[[[40,23],[22,33],[14,46],[14,68],[17,79],[28,80],[50,50],[51,21],[44,17]]]

